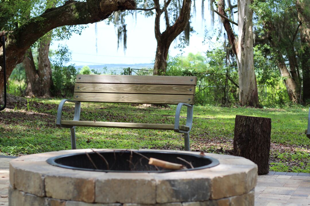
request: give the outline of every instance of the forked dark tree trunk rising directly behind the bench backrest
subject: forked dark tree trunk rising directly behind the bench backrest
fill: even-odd
[[[168,3],[167,3],[168,2]],[[165,1],[165,6],[160,9],[159,0],[154,0],[156,6],[155,15],[155,38],[157,40],[157,49],[155,55],[155,64],[153,75],[165,75],[167,67],[167,57],[170,44],[181,32],[184,31],[188,24],[191,12],[191,0],[183,0],[182,8],[180,10],[179,17],[175,20],[175,23],[170,26],[169,15],[167,13],[167,7],[170,1]],[[160,32],[160,16],[165,12],[166,30]]]

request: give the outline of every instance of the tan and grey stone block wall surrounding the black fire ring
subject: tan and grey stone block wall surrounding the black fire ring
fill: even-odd
[[[207,156],[218,159],[220,164],[202,170],[164,173],[105,173],[71,170],[52,166],[46,162],[51,157],[80,152],[92,151],[91,149],[64,150],[32,154],[12,160],[9,205],[254,205],[257,166],[242,157],[206,153]]]

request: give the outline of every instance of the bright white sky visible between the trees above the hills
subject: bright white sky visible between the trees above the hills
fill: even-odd
[[[202,21],[201,5],[198,1],[196,1],[196,10],[196,15],[193,16],[191,24],[196,32],[190,37],[189,46],[180,51],[180,48],[175,48],[176,43],[173,42],[169,49],[170,56],[181,54],[186,56],[188,53],[203,53],[207,50],[208,44],[202,42],[205,27],[211,29],[210,12],[207,8],[205,9],[205,21]],[[161,32],[165,29],[163,16]],[[217,16],[215,18],[217,19]],[[67,45],[72,52],[72,61],[69,64],[75,65],[153,63],[157,45],[154,34],[154,21],[155,16],[147,18],[144,15],[137,14],[136,20],[132,16],[126,17],[126,52],[124,52],[122,46],[117,49],[116,30],[113,24],[106,24],[106,20],[97,23],[97,35],[95,34],[95,23],[88,24],[88,27],[83,29],[81,35],[73,34],[69,40],[52,41],[51,49],[57,49],[59,44]],[[214,24],[214,28],[218,28],[218,23]]]

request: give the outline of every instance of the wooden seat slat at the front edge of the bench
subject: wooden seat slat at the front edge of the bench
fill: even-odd
[[[162,129],[173,130],[174,124],[144,124],[144,123],[125,123],[125,122],[95,122],[95,121],[73,121],[61,120],[60,124],[84,127],[110,127],[110,128],[130,128],[130,129]],[[189,127],[180,125],[179,129],[189,130]]]

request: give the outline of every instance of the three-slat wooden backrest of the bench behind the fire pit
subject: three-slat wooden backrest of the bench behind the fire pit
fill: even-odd
[[[73,100],[81,102],[194,104],[196,77],[77,76]]]

